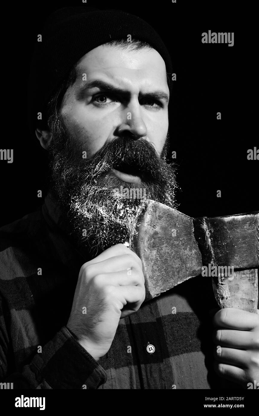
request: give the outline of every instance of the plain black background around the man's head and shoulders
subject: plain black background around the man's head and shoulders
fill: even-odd
[[[13,163],[0,161],[0,225],[41,205],[46,151],[29,132],[29,66],[46,17],[60,7],[117,8],[147,20],[164,40],[176,82],[169,109],[171,151],[178,163],[178,209],[190,216],[217,216],[259,209],[255,121],[257,37],[249,2],[234,1],[49,1],[14,4],[2,15],[1,149],[14,149]],[[234,32],[234,46],[203,44],[202,32]],[[216,119],[221,112],[221,120]],[[217,190],[221,198],[217,198]]]

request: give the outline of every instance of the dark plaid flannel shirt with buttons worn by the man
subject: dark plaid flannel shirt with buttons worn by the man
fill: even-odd
[[[219,387],[210,278],[190,279],[120,319],[109,351],[97,362],[66,327],[79,270],[88,260],[62,228],[50,195],[36,212],[0,229],[1,382],[15,389]]]

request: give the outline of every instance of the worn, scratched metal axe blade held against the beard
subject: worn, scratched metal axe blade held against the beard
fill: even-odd
[[[142,260],[146,300],[201,273],[193,219],[159,202],[147,201],[133,246]]]

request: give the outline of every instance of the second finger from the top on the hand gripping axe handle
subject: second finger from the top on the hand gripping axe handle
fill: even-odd
[[[250,331],[237,331],[235,329],[215,329],[213,342],[221,347],[258,349],[258,334]]]

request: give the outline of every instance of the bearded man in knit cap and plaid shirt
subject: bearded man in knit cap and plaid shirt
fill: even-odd
[[[246,388],[259,379],[259,315],[227,309],[211,322],[211,282],[199,278],[144,302],[131,250],[144,200],[121,186],[176,206],[163,42],[138,17],[78,7],[51,17],[40,47],[34,121],[50,186],[42,210],[1,229],[1,381],[211,389],[217,373]]]

